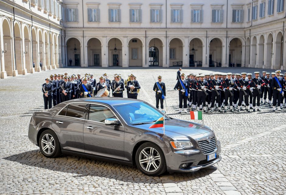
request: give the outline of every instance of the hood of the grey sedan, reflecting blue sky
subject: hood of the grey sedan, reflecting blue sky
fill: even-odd
[[[163,133],[162,127],[151,128],[149,127],[154,123],[132,125],[132,127],[138,127],[147,131],[153,131],[159,134]],[[197,123],[191,123],[184,120],[171,119],[165,120],[165,134],[173,138],[186,138],[198,134],[204,134],[211,131],[210,128]]]

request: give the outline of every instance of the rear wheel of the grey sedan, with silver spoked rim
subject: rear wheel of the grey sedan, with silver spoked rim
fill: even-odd
[[[50,129],[40,135],[39,147],[42,154],[48,158],[56,158],[61,154],[58,136]]]

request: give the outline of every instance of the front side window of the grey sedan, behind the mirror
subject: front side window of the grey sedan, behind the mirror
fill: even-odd
[[[90,105],[88,120],[104,123],[104,120],[108,118],[116,118],[109,108],[100,105]]]

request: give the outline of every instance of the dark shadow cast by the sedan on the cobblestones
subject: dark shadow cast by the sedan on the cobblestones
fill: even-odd
[[[175,183],[190,181],[204,176],[217,170],[211,166],[190,173],[171,173],[165,172],[159,177],[146,176],[134,166],[121,165],[116,163],[104,162],[83,158],[79,156],[61,155],[58,158],[46,158],[40,150],[26,151],[3,158],[8,161],[18,162],[22,165],[48,169],[51,171],[72,173],[72,177],[95,176],[109,179],[116,179],[123,182],[132,183]],[[159,180],[158,180],[159,179]]]

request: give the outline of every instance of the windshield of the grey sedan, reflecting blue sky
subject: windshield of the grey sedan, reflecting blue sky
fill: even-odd
[[[113,106],[128,125],[152,123],[164,115],[143,102],[134,102]],[[165,119],[170,119],[165,115]]]

